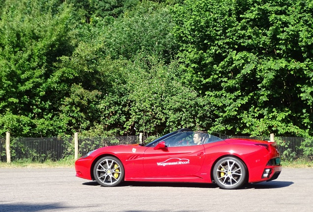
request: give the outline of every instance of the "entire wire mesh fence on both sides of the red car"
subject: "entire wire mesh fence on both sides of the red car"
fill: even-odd
[[[249,138],[269,140],[268,137],[232,136],[234,138]],[[226,137],[225,137],[226,138]],[[143,136],[144,142],[147,137]],[[10,139],[11,161],[31,160],[44,162],[46,160],[58,161],[74,155],[73,137],[19,137]],[[148,139],[150,140],[150,139]],[[282,159],[313,159],[313,141],[302,137],[275,137]],[[139,135],[116,137],[79,137],[79,155],[104,147],[121,144],[138,144]],[[0,159],[6,161],[5,138],[0,137]]]

